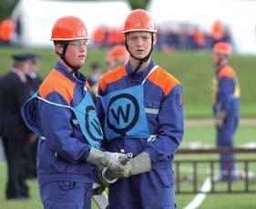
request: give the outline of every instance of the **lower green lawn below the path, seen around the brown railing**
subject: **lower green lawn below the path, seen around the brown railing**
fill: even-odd
[[[211,125],[191,125],[186,127],[186,133],[184,135],[184,139],[181,147],[188,147],[190,143],[196,142],[201,145],[214,145],[214,129]],[[241,125],[235,136],[235,144],[236,146],[241,146],[242,144],[248,144],[250,142],[256,142],[255,135],[255,124],[251,125]],[[238,158],[247,157],[247,155],[238,155]],[[193,158],[200,159],[201,155],[193,156]],[[255,158],[255,154],[250,154],[250,158]],[[177,154],[176,159],[184,158],[180,154]],[[186,157],[188,159],[188,156]],[[189,156],[189,158],[191,158]],[[210,154],[203,156],[204,159],[218,159],[217,154]],[[184,165],[185,166],[185,165]],[[182,167],[181,171],[183,171],[184,175],[189,174],[188,171]],[[189,166],[189,165],[188,165]],[[256,165],[251,166],[251,171],[256,174]],[[40,203],[40,198],[37,190],[36,180],[28,181],[29,186],[31,188],[32,198],[28,201],[6,201],[5,200],[5,181],[6,181],[6,169],[5,162],[0,162],[0,208],[2,209],[34,209],[34,208],[43,208]],[[204,181],[207,177],[206,174],[200,174],[200,183]],[[182,184],[181,184],[182,185]],[[183,187],[186,186],[188,189],[191,184],[184,184]],[[232,185],[234,189],[240,189],[242,186],[241,182],[236,182]],[[218,187],[225,187],[225,184],[220,183]],[[251,183],[251,188],[256,190],[256,182]],[[203,203],[200,205],[201,209],[209,209],[209,208],[255,208],[256,199],[254,198],[255,194],[207,194]],[[179,208],[183,208],[189,204],[189,202],[195,197],[195,194],[179,194],[176,195],[176,202]],[[95,204],[93,204],[92,208],[97,208]]]

